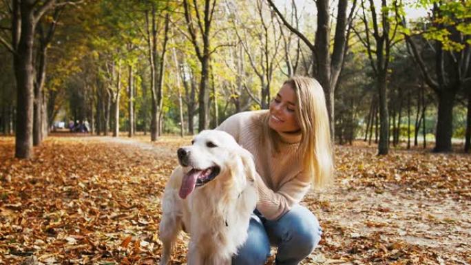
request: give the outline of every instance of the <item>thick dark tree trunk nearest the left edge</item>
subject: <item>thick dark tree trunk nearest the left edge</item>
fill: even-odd
[[[33,122],[33,40],[34,13],[27,3],[21,5],[21,35],[17,53],[14,54],[14,74],[17,81],[17,129],[15,157],[32,158]]]

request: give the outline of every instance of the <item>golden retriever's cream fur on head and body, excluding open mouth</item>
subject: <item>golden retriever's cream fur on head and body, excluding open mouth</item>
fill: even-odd
[[[162,200],[160,265],[169,264],[171,248],[181,230],[191,237],[189,265],[231,264],[231,257],[247,240],[257,202],[251,153],[226,132],[207,130],[193,139],[193,145],[180,148],[178,157],[181,167],[171,174]],[[220,169],[218,176],[182,199],[179,190],[185,174],[215,166]]]

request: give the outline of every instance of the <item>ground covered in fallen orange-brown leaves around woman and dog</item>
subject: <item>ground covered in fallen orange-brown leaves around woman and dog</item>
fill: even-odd
[[[59,134],[32,160],[0,138],[0,264],[157,264],[159,198],[189,138],[148,137]],[[471,264],[471,156],[375,152],[337,147],[335,184],[302,202],[324,230],[304,264]]]

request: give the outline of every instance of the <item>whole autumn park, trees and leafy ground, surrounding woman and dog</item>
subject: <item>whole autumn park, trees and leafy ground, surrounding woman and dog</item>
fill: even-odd
[[[158,263],[178,147],[293,75],[335,142],[302,264],[471,264],[470,20],[468,0],[0,0],[0,264]]]

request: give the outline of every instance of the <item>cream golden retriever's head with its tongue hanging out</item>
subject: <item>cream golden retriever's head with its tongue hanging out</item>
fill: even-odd
[[[251,153],[225,131],[201,131],[190,146],[181,147],[177,153],[186,172],[179,193],[183,199],[218,176],[235,178],[235,188],[246,184],[247,180],[252,181],[255,176]]]

